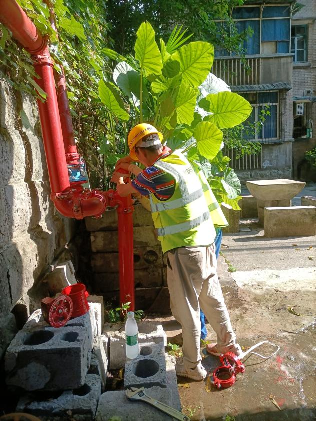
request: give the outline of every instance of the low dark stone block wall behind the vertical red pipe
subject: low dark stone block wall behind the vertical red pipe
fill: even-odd
[[[134,209],[135,307],[168,314],[166,264],[151,213],[140,204]],[[119,304],[117,212],[107,210],[101,219],[85,218],[85,222],[91,239],[91,289],[103,295],[105,304],[112,301],[113,307]]]

